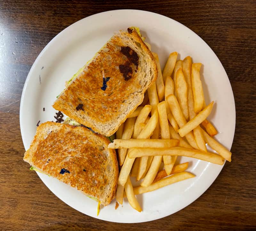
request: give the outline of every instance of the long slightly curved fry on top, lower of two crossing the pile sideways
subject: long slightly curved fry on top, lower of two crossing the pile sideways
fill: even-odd
[[[141,157],[150,155],[178,155],[196,158],[199,160],[208,161],[222,165],[224,159],[222,156],[211,152],[203,152],[198,149],[188,149],[184,147],[170,147],[170,148],[133,148],[129,153],[129,158]]]

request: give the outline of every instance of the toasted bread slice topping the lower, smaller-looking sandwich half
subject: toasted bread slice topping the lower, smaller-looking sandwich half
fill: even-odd
[[[37,128],[24,161],[107,205],[118,179],[116,153],[108,144],[85,127],[46,122]]]

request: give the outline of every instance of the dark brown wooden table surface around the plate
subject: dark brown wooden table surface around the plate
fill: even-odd
[[[28,171],[19,125],[20,97],[38,54],[64,28],[116,9],[156,12],[209,44],[223,64],[236,102],[236,132],[212,186],[171,216],[120,224],[86,216],[58,199]],[[0,1],[0,230],[254,230],[256,228],[255,1]]]

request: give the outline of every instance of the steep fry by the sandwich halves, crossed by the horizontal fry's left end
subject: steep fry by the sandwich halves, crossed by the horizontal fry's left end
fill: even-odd
[[[124,132],[122,134],[122,139],[131,139],[135,120],[136,120],[136,117],[132,117],[132,118],[128,118],[124,122]],[[119,157],[119,165],[120,166],[122,166],[123,163],[124,163],[126,152],[127,152],[127,148],[120,148],[118,150],[118,157]]]

